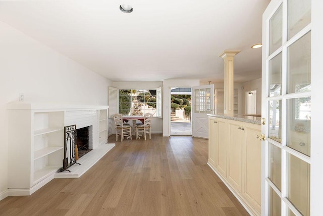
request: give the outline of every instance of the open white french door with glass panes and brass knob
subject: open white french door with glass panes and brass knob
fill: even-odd
[[[311,1],[271,1],[262,32],[261,214],[310,215]]]

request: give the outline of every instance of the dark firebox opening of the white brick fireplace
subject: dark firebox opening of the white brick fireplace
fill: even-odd
[[[76,144],[79,158],[92,150],[92,125],[76,130]]]

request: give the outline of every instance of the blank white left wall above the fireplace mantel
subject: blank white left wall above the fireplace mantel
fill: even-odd
[[[1,200],[7,196],[8,180],[6,104],[24,93],[25,102],[31,103],[107,105],[112,82],[3,22],[0,35]]]

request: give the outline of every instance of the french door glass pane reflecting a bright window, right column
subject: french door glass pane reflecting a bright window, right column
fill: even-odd
[[[310,156],[311,97],[287,100],[287,146]]]

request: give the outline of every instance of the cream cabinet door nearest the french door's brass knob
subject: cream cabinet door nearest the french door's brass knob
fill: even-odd
[[[260,213],[261,205],[261,126],[244,123],[242,147],[242,190],[248,203]]]

